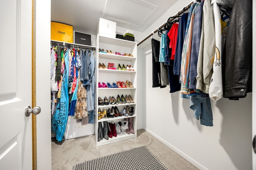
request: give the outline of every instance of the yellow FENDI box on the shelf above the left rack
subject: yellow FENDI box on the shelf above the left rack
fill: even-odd
[[[73,26],[51,21],[51,40],[73,43]]]

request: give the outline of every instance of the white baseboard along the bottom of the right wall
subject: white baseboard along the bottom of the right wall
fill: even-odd
[[[184,154],[183,152],[181,152],[180,150],[178,150],[176,147],[174,147],[173,145],[171,145],[170,143],[166,142],[164,139],[160,138],[158,135],[156,135],[155,133],[153,133],[152,131],[148,130],[147,128],[141,128],[144,129],[146,132],[148,132],[150,135],[154,136],[156,139],[158,139],[160,142],[162,142],[164,145],[166,145],[167,147],[169,147],[170,149],[174,150],[174,152],[178,153],[180,156],[182,156],[184,159],[186,159],[188,162],[190,162],[191,164],[193,164],[194,166],[196,166],[196,168],[200,169],[200,170],[208,170],[207,168],[205,168],[204,166],[202,166],[201,164],[199,164],[198,162],[196,162],[194,159],[190,158],[188,155]]]

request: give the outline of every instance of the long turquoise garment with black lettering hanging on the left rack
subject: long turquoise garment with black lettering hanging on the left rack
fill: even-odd
[[[68,121],[68,53],[70,49],[67,50],[64,60],[65,60],[65,69],[62,78],[61,84],[61,96],[57,104],[55,114],[52,118],[52,133],[56,134],[56,140],[61,142],[64,136],[66,129],[66,124]]]

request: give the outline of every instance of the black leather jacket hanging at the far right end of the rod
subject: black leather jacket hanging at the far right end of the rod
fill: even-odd
[[[216,0],[232,8],[222,58],[223,97],[231,100],[252,92],[252,0]]]

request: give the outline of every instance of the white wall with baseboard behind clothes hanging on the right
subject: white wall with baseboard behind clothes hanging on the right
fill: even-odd
[[[189,3],[179,0],[168,10],[168,16],[164,14],[144,32],[145,37]],[[239,101],[211,101],[214,126],[200,125],[189,108],[189,100],[180,98],[180,92],[170,94],[169,86],[152,88],[152,53],[144,51],[138,53],[145,70],[139,63],[138,68],[146,78],[138,76],[138,84],[143,84],[146,94],[144,129],[200,169],[252,169],[252,93]]]

